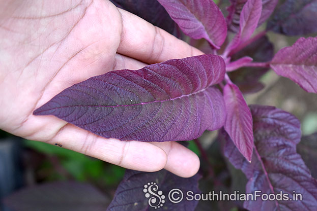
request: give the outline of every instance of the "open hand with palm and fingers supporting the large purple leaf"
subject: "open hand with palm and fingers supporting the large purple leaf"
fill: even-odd
[[[0,1],[0,128],[126,168],[191,177],[198,157],[175,142],[102,138],[33,111],[65,88],[115,69],[202,54],[109,1]],[[1,9],[0,9],[1,10]]]

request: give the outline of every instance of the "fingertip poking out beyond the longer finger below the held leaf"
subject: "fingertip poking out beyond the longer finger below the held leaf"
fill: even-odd
[[[183,178],[192,177],[199,169],[198,156],[177,142],[154,143],[167,154],[165,169]]]

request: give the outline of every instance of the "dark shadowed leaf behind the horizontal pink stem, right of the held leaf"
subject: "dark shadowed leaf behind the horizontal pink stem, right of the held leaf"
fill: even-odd
[[[273,58],[273,45],[266,36],[256,40],[238,53],[232,60],[238,60],[245,56],[252,56],[253,61],[266,62]],[[242,67],[237,71],[228,73],[229,78],[236,84],[243,94],[254,93],[264,88],[258,80],[269,70],[263,67]]]

